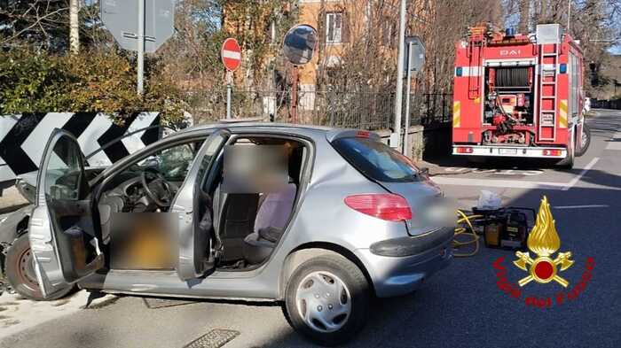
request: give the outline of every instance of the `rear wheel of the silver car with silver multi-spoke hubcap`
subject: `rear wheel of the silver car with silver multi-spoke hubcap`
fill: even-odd
[[[323,255],[295,269],[287,282],[284,309],[296,331],[313,343],[334,346],[364,327],[370,301],[369,284],[354,263],[340,255]]]

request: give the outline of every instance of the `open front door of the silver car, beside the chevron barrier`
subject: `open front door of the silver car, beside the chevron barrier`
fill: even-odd
[[[43,297],[104,266],[95,237],[98,213],[90,208],[84,156],[73,135],[54,129],[37,176],[28,236]]]

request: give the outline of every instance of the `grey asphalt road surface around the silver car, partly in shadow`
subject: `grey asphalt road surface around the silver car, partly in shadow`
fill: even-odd
[[[515,283],[525,273],[512,265],[514,253],[483,248],[474,257],[455,259],[413,295],[375,301],[366,329],[350,346],[621,346],[621,112],[597,113],[588,120],[591,148],[571,171],[504,164],[501,171],[513,174],[502,174],[492,172],[495,166],[468,170],[475,168],[444,160],[429,164],[436,178],[444,178],[447,196],[464,206],[475,205],[485,188],[508,205],[537,207],[546,195],[554,206],[560,251],[571,251],[576,261],[562,272],[570,282],[567,290],[531,282],[520,298],[511,298],[497,287],[492,263],[504,258],[507,278]],[[446,174],[446,167],[466,169]],[[556,294],[567,294],[580,281],[587,258],[593,258],[594,267],[586,288],[557,304]],[[552,305],[526,305],[531,296],[551,297]],[[226,347],[311,346],[290,329],[276,305],[194,302],[148,309],[142,298],[131,297],[49,321],[5,338],[0,346],[182,347],[211,329],[240,331]]]

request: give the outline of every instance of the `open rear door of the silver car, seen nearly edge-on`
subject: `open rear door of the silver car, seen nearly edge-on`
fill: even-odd
[[[204,215],[211,213],[211,207],[207,206],[210,200],[205,199],[201,185],[230,135],[223,128],[208,136],[196,154],[172,205],[172,213],[177,213],[179,218],[177,273],[184,281],[205,275],[215,266],[211,258],[214,241],[208,231],[200,226]]]

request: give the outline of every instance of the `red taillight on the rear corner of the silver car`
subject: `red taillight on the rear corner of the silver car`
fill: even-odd
[[[351,209],[381,220],[402,221],[412,219],[412,209],[404,197],[391,193],[352,195],[345,197]]]

